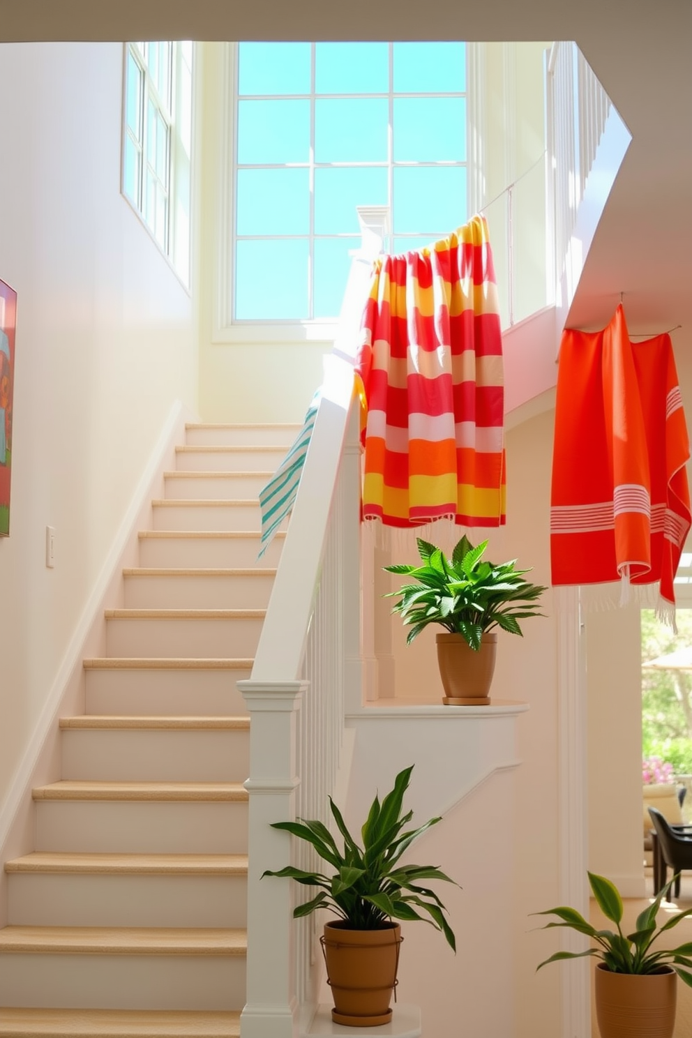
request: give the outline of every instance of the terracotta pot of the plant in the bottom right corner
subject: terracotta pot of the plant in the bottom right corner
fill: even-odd
[[[596,1015],[601,1038],[672,1038],[675,1029],[677,975],[615,974],[605,963],[596,967]]]

